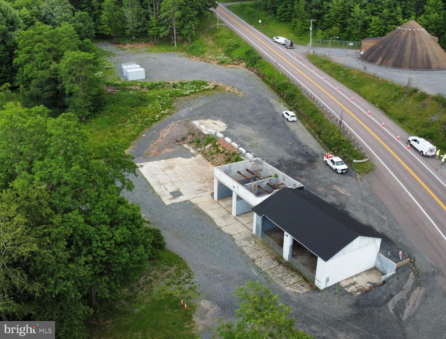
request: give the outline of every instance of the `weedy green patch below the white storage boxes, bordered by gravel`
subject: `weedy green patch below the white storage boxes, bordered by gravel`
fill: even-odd
[[[107,82],[111,96],[87,119],[85,128],[95,144],[118,139],[126,147],[146,128],[174,112],[173,99],[215,89],[205,81]]]

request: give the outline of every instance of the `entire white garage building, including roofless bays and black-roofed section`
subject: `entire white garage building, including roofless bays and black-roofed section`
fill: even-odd
[[[262,159],[215,167],[214,200],[227,196],[232,215],[254,211],[252,232],[321,290],[378,265],[376,231]]]

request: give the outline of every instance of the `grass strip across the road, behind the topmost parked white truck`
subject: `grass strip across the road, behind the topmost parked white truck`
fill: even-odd
[[[310,42],[310,32],[302,35],[296,34],[291,22],[277,19],[270,12],[260,8],[260,3],[257,1],[233,4],[227,6],[227,8],[268,37],[286,37],[293,40],[297,45],[306,45]],[[262,20],[262,22],[259,23],[259,20]],[[314,34],[313,38],[319,39],[317,34]]]

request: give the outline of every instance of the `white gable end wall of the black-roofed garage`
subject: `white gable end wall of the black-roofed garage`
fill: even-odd
[[[329,261],[318,257],[315,285],[320,290],[375,267],[381,239],[357,237]],[[329,281],[326,283],[326,278]]]

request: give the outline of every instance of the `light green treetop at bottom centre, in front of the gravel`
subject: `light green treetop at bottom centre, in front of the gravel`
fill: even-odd
[[[310,335],[294,328],[294,318],[289,318],[289,306],[279,303],[279,295],[259,282],[249,280],[246,287],[234,293],[240,302],[235,311],[239,319],[221,324],[217,331],[223,339],[311,339]]]

